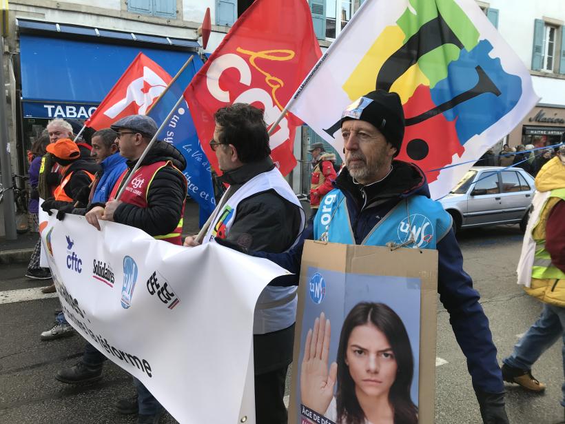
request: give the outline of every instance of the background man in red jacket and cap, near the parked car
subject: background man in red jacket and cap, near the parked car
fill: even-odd
[[[312,155],[313,165],[310,179],[310,209],[311,214],[314,215],[320,208],[322,197],[333,189],[331,183],[336,180],[336,170],[333,168],[336,155],[326,152],[323,143],[310,145],[308,151]]]

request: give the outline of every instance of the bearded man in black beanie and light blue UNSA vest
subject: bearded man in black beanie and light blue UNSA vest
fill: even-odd
[[[400,97],[383,90],[365,94],[343,112],[341,132],[346,166],[333,183],[334,189],[322,199],[314,222],[302,233],[302,242],[283,254],[247,253],[266,257],[296,274],[294,281],[276,279],[274,285],[296,285],[305,239],[437,249],[440,300],[449,312],[455,338],[466,356],[483,422],[508,423],[502,374],[489,321],[471,277],[463,270],[451,217],[440,203],[430,199],[422,170],[413,163],[394,159],[404,137]],[[331,210],[332,216],[329,223],[322,217],[322,211],[327,210]],[[433,228],[427,232],[425,242],[421,238],[414,241],[414,235],[407,242],[400,239],[400,224],[414,214],[426,216]]]

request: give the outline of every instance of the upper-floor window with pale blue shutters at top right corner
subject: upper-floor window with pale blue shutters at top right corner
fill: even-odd
[[[561,49],[558,48],[559,46]],[[532,70],[565,74],[563,26],[555,26],[542,19],[535,19]]]

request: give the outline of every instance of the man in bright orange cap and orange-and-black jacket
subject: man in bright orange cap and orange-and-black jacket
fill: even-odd
[[[68,210],[86,206],[88,203],[89,185],[94,180],[94,174],[99,170],[96,163],[83,161],[79,147],[71,139],[59,139],[56,143],[47,146],[48,153],[52,154],[54,161],[61,165],[61,183],[54,190],[54,197],[47,199],[41,205],[48,214],[52,210]],[[55,285],[41,289],[43,293],[55,292]],[[41,340],[54,340],[72,335],[72,327],[65,320],[63,313],[56,317],[55,325],[48,331],[41,333]]]

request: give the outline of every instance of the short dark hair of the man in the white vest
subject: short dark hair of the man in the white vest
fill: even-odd
[[[246,103],[234,103],[214,114],[222,128],[218,143],[232,144],[243,163],[260,161],[271,154],[263,110]]]

